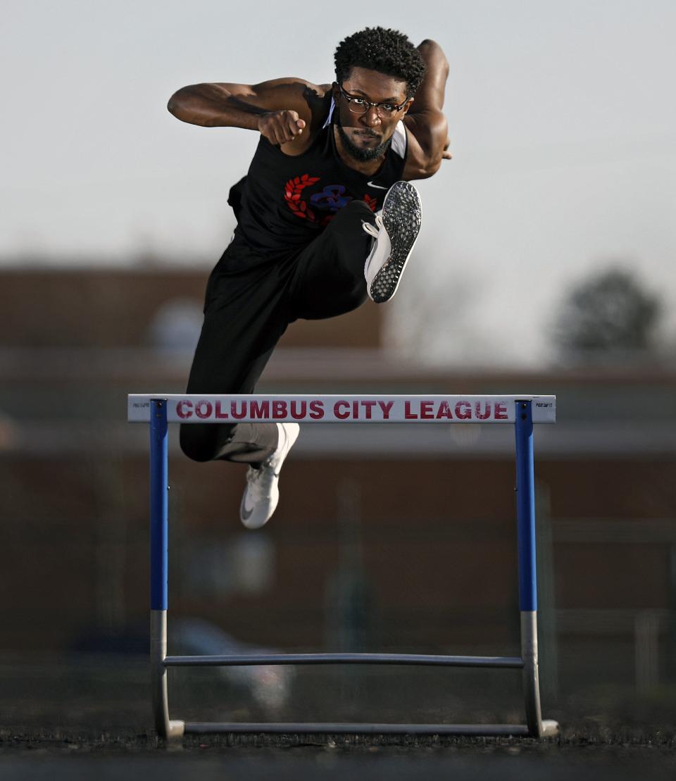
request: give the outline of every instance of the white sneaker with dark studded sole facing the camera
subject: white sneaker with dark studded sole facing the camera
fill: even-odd
[[[410,182],[395,182],[387,191],[382,215],[375,225],[364,223],[364,230],[375,241],[364,266],[368,297],[376,304],[390,301],[418,233],[422,219],[420,194]]]

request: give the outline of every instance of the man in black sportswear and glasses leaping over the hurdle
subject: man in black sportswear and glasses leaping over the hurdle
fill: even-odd
[[[237,228],[209,276],[190,394],[250,394],[286,326],[350,312],[397,291],[420,230],[418,191],[450,159],[443,93],[448,62],[382,27],[336,49],[336,81],[196,84],[169,111],[201,127],[261,134],[228,203]],[[240,518],[263,526],[297,423],[181,426],[195,461],[249,465]]]

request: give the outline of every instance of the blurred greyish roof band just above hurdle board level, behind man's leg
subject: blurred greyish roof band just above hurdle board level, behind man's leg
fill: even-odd
[[[55,382],[76,378],[105,379],[116,382],[126,377],[138,383],[152,377],[161,381],[183,382],[192,359],[192,349],[166,348],[91,348],[91,347],[0,347],[0,375],[4,382],[51,377]],[[162,378],[158,380],[158,378]],[[262,378],[262,384],[316,380],[395,381],[419,387],[429,382],[443,383],[454,393],[466,392],[474,383],[519,383],[528,392],[548,392],[540,383],[589,385],[595,383],[676,383],[676,366],[667,362],[608,362],[548,366],[543,369],[494,366],[457,366],[416,361],[397,351],[381,348],[278,348]],[[449,386],[449,383],[450,386]],[[533,389],[532,383],[538,387]],[[528,384],[528,388],[525,388]],[[129,388],[130,393],[143,389]],[[449,391],[450,392],[450,391]],[[507,392],[504,388],[503,391]]]

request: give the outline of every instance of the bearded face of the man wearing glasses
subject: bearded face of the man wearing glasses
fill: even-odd
[[[338,131],[348,154],[362,162],[380,157],[390,144],[397,122],[411,103],[407,102],[406,82],[377,70],[354,67],[340,86],[348,95],[371,103],[406,104],[391,117],[379,116],[374,106],[369,106],[363,114],[355,114],[350,111],[350,102],[341,95],[338,87],[334,87]]]

